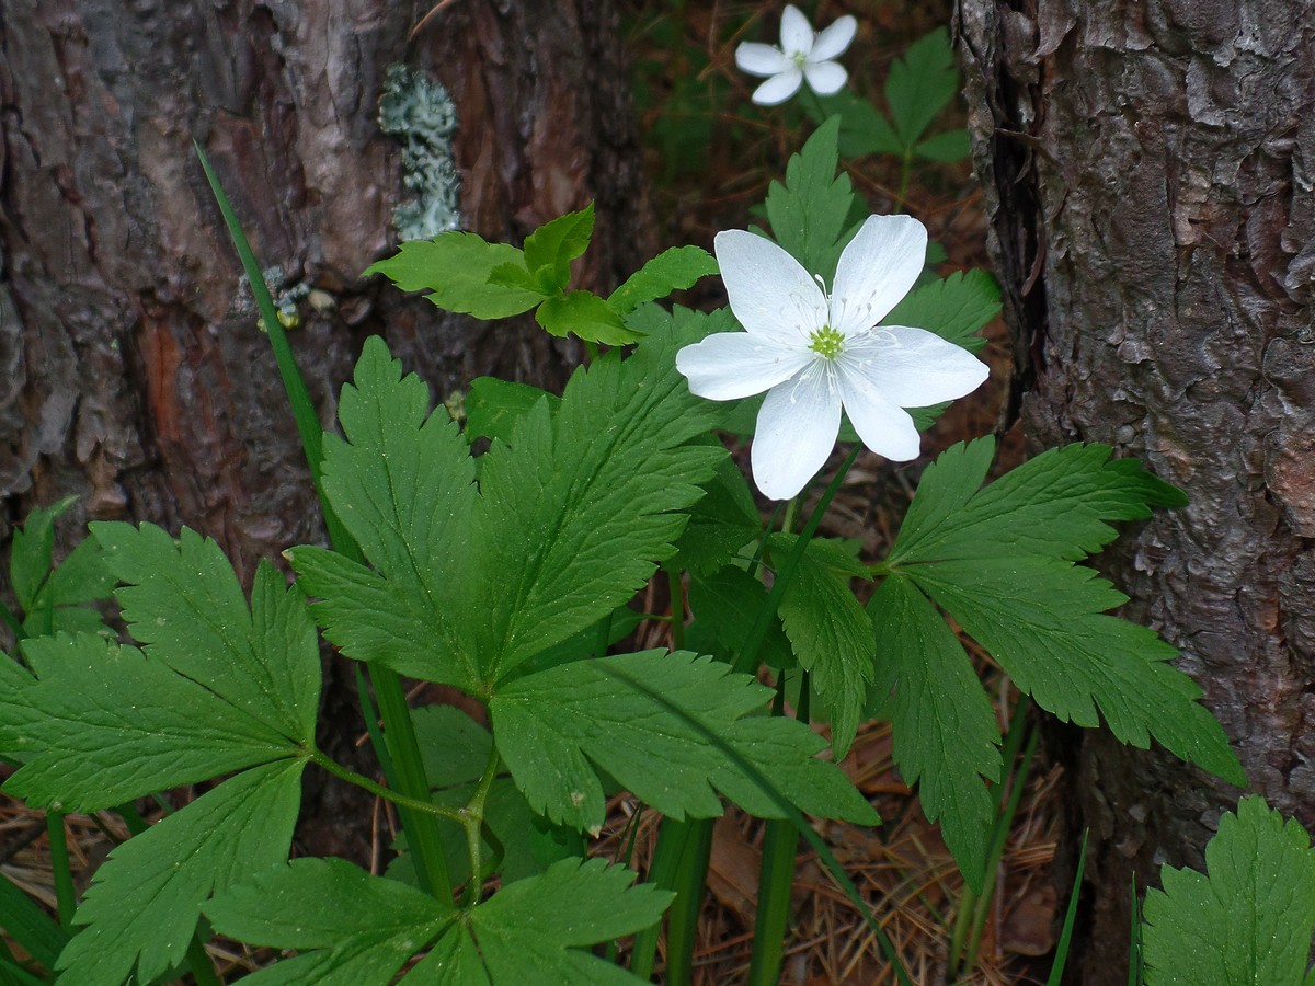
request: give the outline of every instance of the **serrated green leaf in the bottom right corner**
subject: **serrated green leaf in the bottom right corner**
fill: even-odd
[[[1219,819],[1208,876],[1164,866],[1143,910],[1147,986],[1310,983],[1315,852],[1258,797]]]

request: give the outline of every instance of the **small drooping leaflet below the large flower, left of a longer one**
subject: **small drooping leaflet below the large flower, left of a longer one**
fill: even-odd
[[[775,535],[773,555],[784,557],[796,540]],[[840,759],[859,730],[877,651],[872,621],[849,589],[852,571],[836,572],[827,564],[834,547],[809,542],[781,598],[781,623],[800,665],[813,676],[813,689],[831,711],[831,745]],[[852,559],[842,552],[840,561],[848,565]]]

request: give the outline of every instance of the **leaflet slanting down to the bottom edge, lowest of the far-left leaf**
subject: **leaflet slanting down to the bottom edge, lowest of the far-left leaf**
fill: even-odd
[[[151,982],[180,965],[205,901],[288,857],[301,768],[246,770],[116,848],[78,908],[87,927],[60,953],[59,982]]]

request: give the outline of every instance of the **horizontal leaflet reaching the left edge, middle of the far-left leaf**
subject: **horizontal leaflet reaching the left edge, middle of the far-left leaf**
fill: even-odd
[[[33,807],[99,811],[304,752],[266,710],[134,647],[59,634],[26,639],[24,652],[37,680],[0,699],[0,732],[25,761],[5,791]]]

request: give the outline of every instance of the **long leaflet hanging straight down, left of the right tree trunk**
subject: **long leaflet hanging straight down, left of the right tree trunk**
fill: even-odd
[[[888,578],[868,613],[876,628],[872,693],[890,720],[894,759],[905,784],[918,784],[928,822],[940,820],[945,845],[978,893],[995,806],[982,778],[999,781],[999,728],[959,639],[927,598]]]

